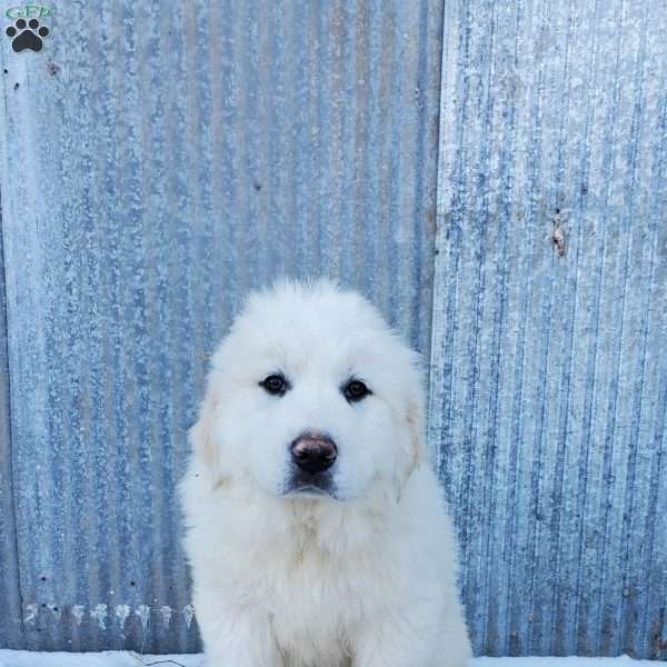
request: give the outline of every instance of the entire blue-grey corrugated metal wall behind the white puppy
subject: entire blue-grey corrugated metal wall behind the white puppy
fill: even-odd
[[[198,648],[173,488],[207,356],[248,289],[326,273],[432,348],[476,650],[666,658],[660,1],[46,22],[1,36],[0,645]]]

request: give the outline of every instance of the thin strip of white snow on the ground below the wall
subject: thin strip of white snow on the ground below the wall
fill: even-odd
[[[476,658],[470,667],[639,667],[649,660],[620,658]],[[0,667],[203,667],[201,656],[139,656],[127,651],[89,654],[1,650]]]

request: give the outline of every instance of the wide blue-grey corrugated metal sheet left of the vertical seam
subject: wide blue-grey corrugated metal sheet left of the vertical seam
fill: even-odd
[[[44,23],[39,53],[1,40],[23,606],[9,564],[0,645],[192,650],[175,485],[240,298],[326,273],[428,355],[441,9],[63,2]]]

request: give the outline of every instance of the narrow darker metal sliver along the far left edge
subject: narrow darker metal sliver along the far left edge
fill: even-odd
[[[19,560],[11,466],[7,296],[0,215],[0,637],[8,648],[23,648]]]

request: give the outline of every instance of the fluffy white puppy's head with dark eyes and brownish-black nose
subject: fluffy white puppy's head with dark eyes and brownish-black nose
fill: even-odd
[[[424,457],[417,355],[355,292],[252,295],[211,366],[190,436],[219,482],[347,500],[400,494]]]

